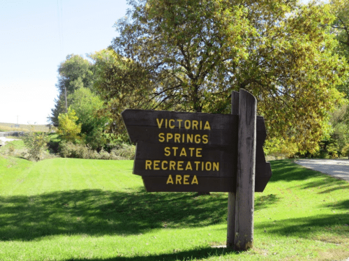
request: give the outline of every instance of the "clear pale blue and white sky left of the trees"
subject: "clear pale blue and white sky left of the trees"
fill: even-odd
[[[102,50],[126,0],[0,0],[0,122],[47,124],[68,54]]]

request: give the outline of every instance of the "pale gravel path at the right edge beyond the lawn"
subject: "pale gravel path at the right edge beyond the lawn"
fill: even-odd
[[[295,163],[349,181],[349,160],[297,160]]]

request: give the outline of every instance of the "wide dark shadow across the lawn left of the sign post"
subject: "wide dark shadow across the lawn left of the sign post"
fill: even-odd
[[[214,193],[61,191],[0,197],[0,241],[57,234],[139,234],[222,223],[227,197]]]

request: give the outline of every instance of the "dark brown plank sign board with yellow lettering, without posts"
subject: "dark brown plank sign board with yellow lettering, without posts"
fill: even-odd
[[[235,192],[238,115],[124,110],[122,117],[137,143],[133,174],[147,191]],[[255,191],[262,192],[272,176],[262,117],[256,136]]]

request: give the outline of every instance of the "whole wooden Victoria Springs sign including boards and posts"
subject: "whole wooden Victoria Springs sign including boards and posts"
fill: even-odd
[[[228,192],[227,247],[253,246],[254,193],[272,170],[265,162],[265,122],[247,91],[232,92],[232,114],[125,110],[133,173],[147,191]]]

